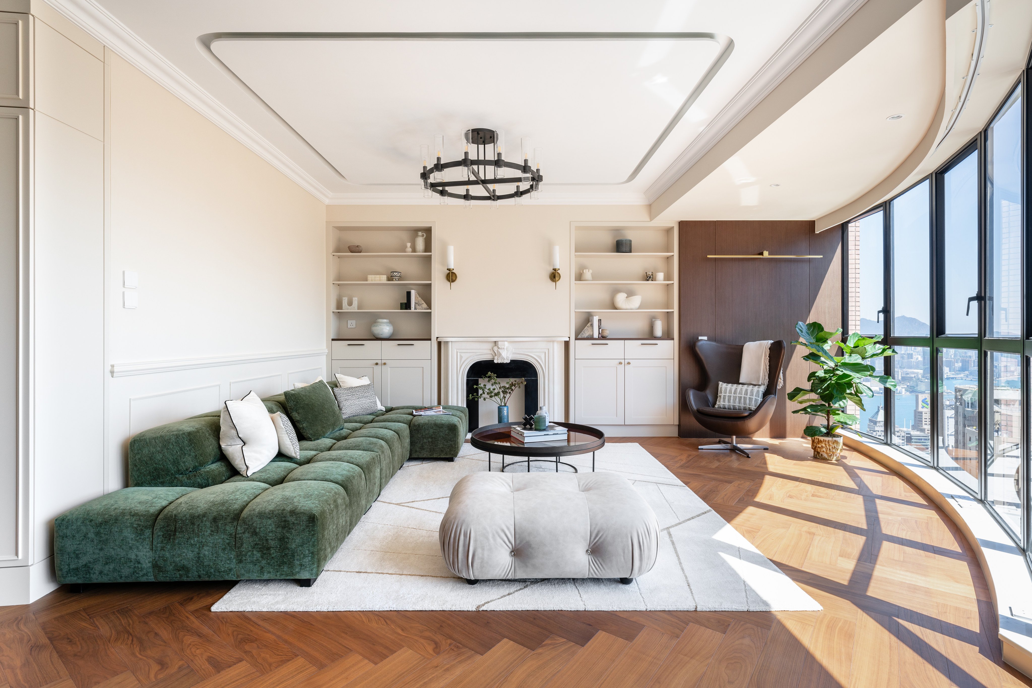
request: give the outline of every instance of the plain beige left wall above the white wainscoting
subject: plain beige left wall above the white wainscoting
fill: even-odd
[[[322,202],[106,51],[109,360],[325,346]],[[122,271],[139,307],[122,307]]]

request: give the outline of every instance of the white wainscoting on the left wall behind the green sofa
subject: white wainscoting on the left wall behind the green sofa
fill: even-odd
[[[325,349],[299,351],[295,356],[249,355],[236,361],[227,357],[153,361],[146,364],[148,371],[142,364],[112,365],[105,491],[126,487],[129,439],[137,432],[217,411],[226,399],[238,399],[250,390],[271,396],[294,382],[326,375]]]

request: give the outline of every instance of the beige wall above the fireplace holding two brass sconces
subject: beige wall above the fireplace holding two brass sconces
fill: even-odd
[[[646,222],[647,205],[328,205],[326,220],[437,223],[433,282],[437,336],[570,336],[570,285],[555,289],[552,247],[571,263],[571,222]],[[458,282],[445,282],[445,248],[455,247]]]

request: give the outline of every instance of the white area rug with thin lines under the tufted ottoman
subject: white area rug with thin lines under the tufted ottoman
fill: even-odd
[[[590,454],[567,461],[582,471],[591,469]],[[525,470],[525,465],[510,470]],[[554,471],[547,463],[531,466]],[[491,469],[501,469],[497,455]],[[631,585],[615,579],[553,579],[471,586],[449,571],[438,544],[448,495],[463,476],[487,470],[487,455],[465,445],[454,462],[407,462],[311,588],[294,581],[241,581],[212,610],[821,609],[640,445],[606,445],[595,469],[630,480],[659,521],[655,566]]]

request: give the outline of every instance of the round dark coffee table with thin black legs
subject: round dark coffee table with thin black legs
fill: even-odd
[[[559,471],[559,464],[570,466],[577,472],[577,466],[559,461],[561,456],[575,456],[577,454],[587,454],[591,452],[591,472],[594,472],[594,453],[606,445],[606,434],[589,425],[577,425],[576,423],[553,423],[569,430],[566,437],[555,441],[536,441],[524,444],[510,434],[510,428],[522,425],[522,423],[498,423],[496,425],[484,425],[477,428],[470,435],[470,444],[482,452],[487,452],[487,470],[491,470],[491,454],[502,455],[502,470],[508,466],[522,463],[513,461],[506,464],[507,456],[518,456],[526,460],[527,472],[530,470],[531,461],[548,461],[555,463],[555,471]]]

